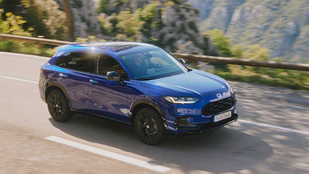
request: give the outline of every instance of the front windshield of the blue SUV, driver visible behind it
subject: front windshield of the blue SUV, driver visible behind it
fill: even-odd
[[[162,49],[120,55],[136,80],[152,80],[188,72],[176,58]]]

